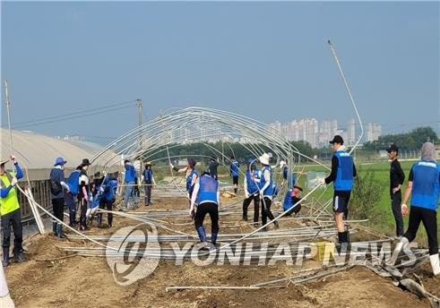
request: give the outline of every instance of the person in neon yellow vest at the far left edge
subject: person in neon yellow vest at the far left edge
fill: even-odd
[[[9,245],[11,243],[11,225],[13,225],[13,257],[16,261],[23,262],[22,254],[23,229],[22,213],[18,201],[18,193],[15,188],[18,180],[23,177],[22,168],[17,160],[11,155],[13,166],[16,172],[6,172],[4,164],[9,160],[0,161],[0,216],[2,217],[1,227],[3,233],[3,266],[9,265]]]

